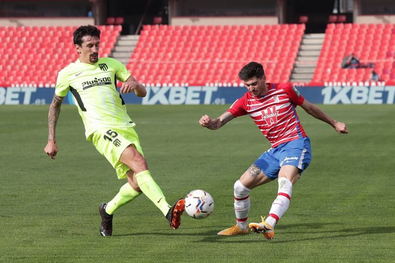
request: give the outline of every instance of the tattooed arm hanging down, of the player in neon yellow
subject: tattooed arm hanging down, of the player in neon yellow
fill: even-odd
[[[56,123],[58,122],[60,107],[62,106],[63,97],[59,97],[56,94],[53,96],[51,105],[49,106],[48,112],[48,143],[46,144],[44,151],[46,154],[55,159],[58,153],[58,147],[56,145],[55,130]]]

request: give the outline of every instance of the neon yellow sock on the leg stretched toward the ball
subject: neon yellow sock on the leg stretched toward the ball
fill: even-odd
[[[137,184],[145,195],[162,211],[163,215],[166,216],[169,211],[169,204],[166,202],[162,190],[160,190],[157,183],[151,177],[150,171],[142,171],[136,174]]]

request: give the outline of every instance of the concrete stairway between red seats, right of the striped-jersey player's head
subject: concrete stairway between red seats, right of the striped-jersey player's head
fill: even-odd
[[[305,34],[291,74],[291,82],[310,82],[314,71],[325,34]]]

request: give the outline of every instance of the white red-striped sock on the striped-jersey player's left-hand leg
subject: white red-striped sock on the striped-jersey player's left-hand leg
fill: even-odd
[[[237,226],[241,230],[247,229],[247,217],[250,212],[250,196],[251,189],[246,188],[239,180],[236,181],[234,186],[235,195],[235,214],[237,218]]]

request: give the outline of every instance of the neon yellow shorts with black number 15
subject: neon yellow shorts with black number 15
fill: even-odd
[[[96,149],[117,171],[118,179],[126,178],[126,172],[130,170],[128,166],[119,162],[120,155],[126,147],[133,145],[144,156],[139,136],[132,127],[100,129],[89,137]]]

